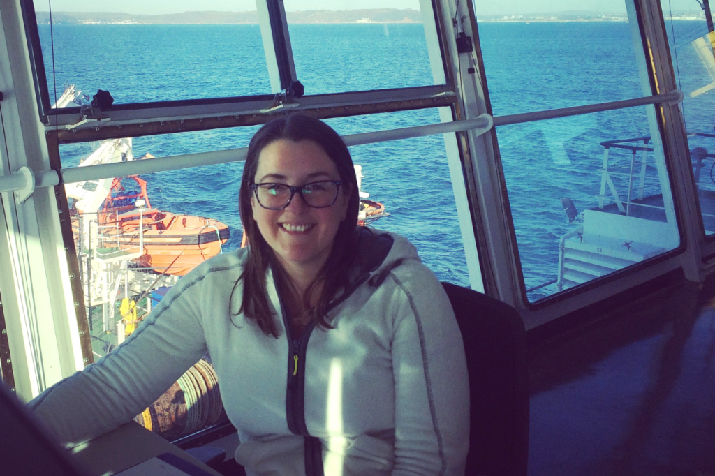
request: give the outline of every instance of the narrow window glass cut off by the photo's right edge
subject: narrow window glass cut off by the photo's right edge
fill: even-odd
[[[692,4],[691,4],[692,3]],[[704,9],[696,2],[661,1],[674,62],[684,92],[681,111],[706,234],[715,234],[715,56]]]

